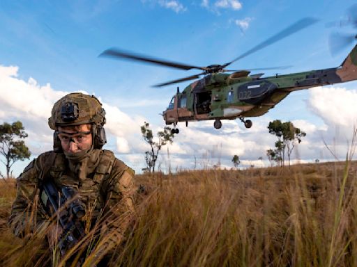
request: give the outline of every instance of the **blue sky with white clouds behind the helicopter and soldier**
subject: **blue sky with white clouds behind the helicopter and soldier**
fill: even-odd
[[[111,47],[190,65],[227,63],[256,44],[302,19],[319,22],[230,65],[234,69],[291,65],[264,76],[339,66],[354,44],[331,55],[331,33],[354,33],[351,27],[326,27],[346,19],[355,1],[293,0],[133,0],[0,1],[0,123],[23,122],[31,159],[13,165],[20,175],[30,160],[52,149],[47,125],[51,108],[69,92],[99,97],[107,112],[108,143],[116,156],[137,173],[149,149],[140,126],[154,133],[165,127],[160,113],[176,85],[152,85],[196,74],[99,58]],[[356,30],[356,29],[355,29]],[[181,90],[190,82],[180,83]],[[167,171],[231,168],[237,154],[241,168],[269,165],[266,150],[276,137],[268,122],[291,121],[307,133],[293,152],[294,162],[344,160],[357,127],[357,82],[291,93],[245,129],[240,120],[179,123],[174,143],[162,147],[158,169]],[[332,152],[332,153],[331,153]],[[263,160],[259,160],[263,157]],[[5,172],[3,165],[1,173]]]

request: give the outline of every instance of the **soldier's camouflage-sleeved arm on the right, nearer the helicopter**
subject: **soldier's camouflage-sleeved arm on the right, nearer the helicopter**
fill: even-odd
[[[105,204],[107,220],[105,236],[110,250],[123,241],[123,235],[130,224],[134,212],[133,195],[135,172],[119,160],[114,161],[107,186]]]

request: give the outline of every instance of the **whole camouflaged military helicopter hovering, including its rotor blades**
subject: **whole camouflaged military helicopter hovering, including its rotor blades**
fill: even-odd
[[[355,21],[357,22],[357,18]],[[166,111],[162,113],[166,124],[173,124],[172,133],[179,133],[179,129],[176,128],[178,122],[185,122],[187,127],[188,122],[199,120],[214,120],[213,126],[215,129],[220,129],[222,127],[221,120],[235,120],[239,118],[246,128],[250,128],[252,127],[252,121],[245,120],[245,118],[257,117],[267,113],[270,108],[273,108],[282,101],[290,92],[357,79],[357,45],[352,49],[342,65],[324,70],[262,77],[263,73],[250,75],[252,70],[226,69],[231,63],[255,53],[292,33],[296,33],[315,22],[317,22],[317,19],[310,17],[301,19],[283,31],[280,31],[280,33],[268,38],[268,40],[257,44],[257,46],[241,56],[222,65],[197,67],[143,56],[116,48],[107,49],[100,56],[136,60],[142,63],[163,65],[181,70],[198,69],[203,71],[199,74],[155,85],[155,87],[168,86],[174,83],[198,79],[199,76],[204,75],[202,79],[190,83],[182,92],[177,88],[176,95],[172,97]],[[352,36],[352,39],[356,40],[357,35]],[[277,68],[284,67],[268,67],[264,68],[264,70]]]

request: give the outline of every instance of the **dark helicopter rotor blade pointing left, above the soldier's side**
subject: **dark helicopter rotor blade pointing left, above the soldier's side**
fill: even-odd
[[[174,67],[176,69],[181,69],[181,70],[192,70],[192,69],[198,69],[198,70],[205,70],[205,67],[197,67],[197,66],[192,66],[192,65],[186,65],[182,63],[176,63],[168,60],[162,60],[159,58],[153,58],[151,56],[144,56],[144,55],[139,55],[135,54],[129,51],[123,51],[120,49],[116,48],[111,48],[107,49],[102,52],[99,56],[107,56],[109,58],[123,58],[127,60],[135,60],[139,61],[142,63],[151,63],[155,65],[162,65],[162,66],[167,66],[167,67]]]

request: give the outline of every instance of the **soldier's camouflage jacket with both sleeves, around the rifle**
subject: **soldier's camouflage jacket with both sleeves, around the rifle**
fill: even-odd
[[[48,159],[52,158],[52,162]],[[45,165],[51,164],[45,168]],[[108,234],[109,247],[122,241],[133,212],[132,197],[134,171],[109,150],[94,149],[82,163],[79,174],[61,153],[45,152],[34,159],[17,178],[17,195],[9,218],[10,227],[16,236],[23,237],[47,227],[49,216],[40,204],[40,185],[43,171],[56,186],[73,186],[85,205],[86,229],[100,224],[100,232]],[[90,223],[88,223],[90,222]]]

